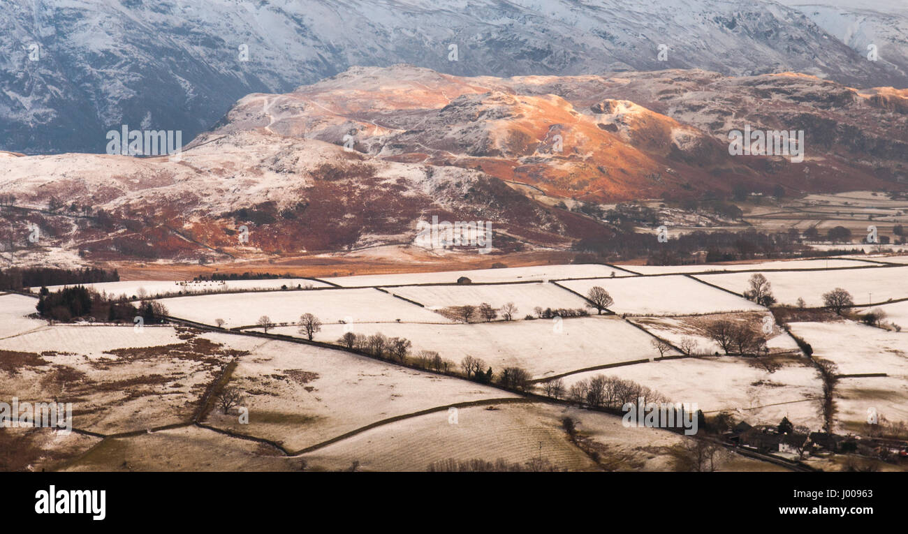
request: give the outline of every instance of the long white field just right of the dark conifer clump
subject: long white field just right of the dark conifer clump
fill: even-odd
[[[438,313],[375,289],[228,293],[175,297],[161,302],[174,317],[206,324],[223,319],[227,328],[255,324],[262,315],[274,322],[295,322],[303,313],[313,313],[324,323],[348,318],[366,322],[448,321]]]

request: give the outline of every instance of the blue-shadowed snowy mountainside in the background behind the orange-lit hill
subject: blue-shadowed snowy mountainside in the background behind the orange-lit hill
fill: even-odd
[[[814,24],[819,19],[768,0],[0,0],[0,7],[0,150],[24,153],[104,152],[105,133],[123,124],[180,130],[188,141],[245,94],[285,93],[351,65],[498,76],[797,71],[856,87],[908,85],[897,62],[867,61]]]

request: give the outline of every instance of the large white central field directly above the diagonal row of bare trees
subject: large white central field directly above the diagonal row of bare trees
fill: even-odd
[[[274,331],[301,335],[296,327]],[[659,355],[650,345],[652,336],[615,316],[576,317],[560,322],[538,319],[473,324],[354,323],[350,331],[407,338],[413,342],[412,354],[437,351],[455,364],[471,355],[485,360],[493,371],[521,367],[534,378]],[[342,333],[343,325],[324,325],[315,340],[334,342]],[[666,355],[675,353],[669,351]]]

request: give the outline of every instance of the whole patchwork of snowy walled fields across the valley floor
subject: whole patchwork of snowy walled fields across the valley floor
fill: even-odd
[[[897,323],[897,306],[908,299],[903,265],[881,256],[701,271],[602,264],[480,271],[488,265],[479,262],[436,273],[330,272],[336,276],[182,296],[151,276],[99,284],[160,292],[172,324],[137,327],[50,324],[33,315],[34,297],[0,294],[0,401],[72,402],[74,429],[0,430],[0,469],[687,470],[703,443],[716,445],[715,470],[842,470],[855,461],[904,469],[897,454],[883,462],[866,445],[889,436],[897,449],[906,437],[908,333]],[[755,273],[780,302],[803,296],[806,307],[785,315],[746,300]],[[457,283],[460,276],[470,282]],[[593,287],[614,298],[603,314],[589,309]],[[872,288],[873,302],[842,315],[817,308],[834,287],[855,301]],[[482,302],[497,315],[459,319],[457,310]],[[508,303],[516,310],[506,320]],[[893,321],[856,321],[875,306]],[[323,322],[313,341],[300,331],[303,313]],[[267,331],[256,321],[265,315]],[[765,345],[725,354],[711,333],[718,322],[759,333]],[[343,346],[348,332],[363,344]],[[406,354],[365,343],[381,336],[410,341]],[[493,380],[465,376],[461,362],[469,358]],[[831,411],[822,409],[829,404],[823,361],[837,377]],[[503,387],[498,377],[513,368],[525,370],[527,382]],[[597,380],[694,405],[711,437],[628,427],[620,404],[577,396]],[[241,395],[226,410],[225,391]],[[777,440],[769,449],[741,448],[752,432],[735,434],[735,446],[727,440],[735,431],[716,427],[722,418],[765,436],[785,419],[795,433],[826,428],[861,445],[850,454],[819,447],[795,454]]]

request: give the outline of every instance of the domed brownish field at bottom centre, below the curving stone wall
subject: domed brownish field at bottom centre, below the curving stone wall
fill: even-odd
[[[340,470],[360,461],[365,470],[427,470],[440,460],[506,460],[524,463],[541,457],[559,469],[597,470],[567,439],[561,419],[579,420],[577,428],[624,460],[625,470],[666,470],[659,454],[682,440],[666,430],[625,428],[621,419],[604,413],[556,405],[502,404],[458,410],[457,423],[447,411],[401,420],[367,430],[347,440],[304,455],[313,465]],[[644,430],[644,431],[640,431]],[[611,459],[609,459],[611,460]]]

